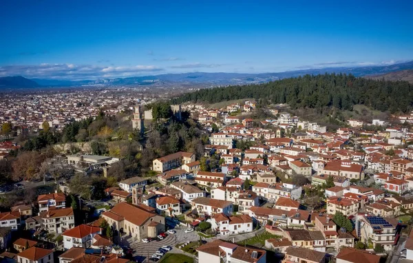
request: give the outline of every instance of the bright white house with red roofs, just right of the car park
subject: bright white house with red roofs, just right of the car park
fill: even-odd
[[[221,235],[236,235],[253,231],[253,220],[249,215],[226,216],[216,213],[211,220],[212,229]]]

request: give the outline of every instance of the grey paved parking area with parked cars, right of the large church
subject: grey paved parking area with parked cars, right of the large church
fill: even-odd
[[[151,255],[153,255],[153,253],[155,253],[161,246],[171,246],[174,248],[177,244],[200,239],[200,236],[196,231],[185,233],[185,229],[187,229],[187,227],[173,229],[176,231],[175,234],[169,234],[166,238],[160,241],[144,243],[141,240],[129,238],[124,240],[123,243],[128,244],[131,249],[134,249],[134,257],[137,262],[148,262],[148,257],[151,257]],[[176,253],[176,249],[173,250],[175,250],[173,253]]]

